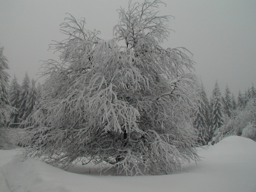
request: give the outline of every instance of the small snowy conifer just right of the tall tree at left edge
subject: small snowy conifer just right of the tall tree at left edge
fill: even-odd
[[[19,83],[17,82],[17,77],[14,74],[11,86],[10,86],[10,91],[9,91],[9,95],[10,95],[10,103],[12,105],[13,108],[15,108],[15,111],[13,111],[13,113],[11,114],[10,118],[11,118],[11,122],[9,125],[15,125],[17,124],[17,111],[19,111],[19,96],[20,96],[20,92],[21,92],[21,88]]]

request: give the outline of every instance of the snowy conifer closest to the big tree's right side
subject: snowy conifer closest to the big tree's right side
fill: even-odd
[[[205,98],[207,99],[207,97],[205,97],[206,93],[203,85],[199,90],[199,94],[201,102],[200,105],[198,105],[198,110],[196,110],[194,126],[198,130],[198,143],[206,145],[209,141],[209,125],[207,124],[207,113],[209,113],[209,106],[207,106],[207,100],[204,102]]]

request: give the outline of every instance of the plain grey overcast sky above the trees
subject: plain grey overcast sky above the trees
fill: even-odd
[[[135,2],[135,1],[133,1]],[[138,2],[142,2],[141,0]],[[255,0],[166,0],[159,15],[170,19],[168,41],[163,47],[186,47],[193,52],[196,74],[210,97],[216,80],[224,93],[256,87],[256,1]],[[12,81],[22,83],[26,71],[36,79],[42,62],[56,59],[48,51],[51,40],[61,41],[60,24],[70,13],[84,17],[87,29],[101,31],[100,38],[111,39],[120,6],[128,0],[0,0],[0,46],[8,58]],[[39,80],[40,81],[40,80]]]

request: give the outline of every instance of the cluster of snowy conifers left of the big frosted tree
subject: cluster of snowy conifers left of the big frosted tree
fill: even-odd
[[[26,120],[29,119],[33,108],[36,104],[38,87],[34,79],[29,80],[28,73],[22,81],[22,85],[17,81],[14,74],[11,84],[9,85],[10,75],[5,71],[8,69],[7,58],[3,55],[3,47],[0,48],[0,126],[24,128]],[[28,124],[27,124],[28,125]]]

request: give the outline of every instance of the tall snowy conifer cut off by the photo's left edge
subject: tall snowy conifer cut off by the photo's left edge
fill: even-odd
[[[6,125],[10,118],[10,101],[8,99],[9,74],[6,69],[9,69],[7,59],[3,55],[3,47],[0,47],[0,127]]]

